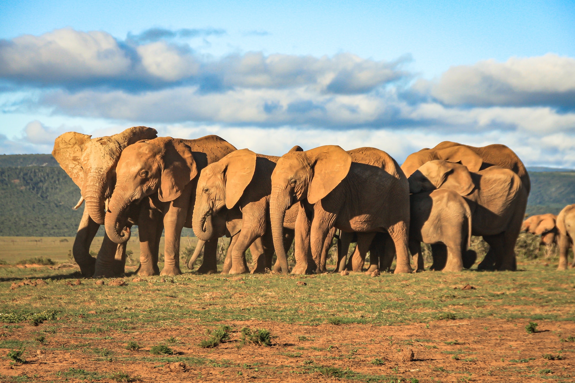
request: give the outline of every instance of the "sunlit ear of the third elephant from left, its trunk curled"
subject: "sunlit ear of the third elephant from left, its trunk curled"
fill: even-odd
[[[249,149],[236,150],[220,162],[225,165],[225,206],[231,209],[254,178],[256,154]]]

